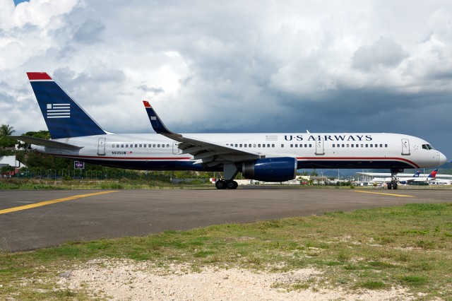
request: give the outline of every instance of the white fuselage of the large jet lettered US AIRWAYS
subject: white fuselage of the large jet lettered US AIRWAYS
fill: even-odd
[[[446,157],[415,136],[386,133],[184,134],[262,158],[297,158],[298,168],[435,167]],[[41,153],[112,167],[138,170],[222,170],[204,165],[160,134],[105,134],[55,139],[83,148],[76,151],[32,146]],[[235,160],[234,160],[235,161]]]

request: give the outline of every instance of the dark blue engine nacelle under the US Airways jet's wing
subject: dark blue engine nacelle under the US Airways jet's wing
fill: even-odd
[[[242,174],[248,179],[283,182],[295,179],[297,159],[291,157],[265,158],[242,163]]]

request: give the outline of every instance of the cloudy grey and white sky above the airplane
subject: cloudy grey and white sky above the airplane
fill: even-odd
[[[15,3],[16,2],[16,3]],[[109,131],[396,132],[452,159],[452,2],[0,0],[0,124],[46,71]],[[246,4],[246,6],[244,5]]]

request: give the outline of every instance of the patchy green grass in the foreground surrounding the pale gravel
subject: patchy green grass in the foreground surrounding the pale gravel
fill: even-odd
[[[0,251],[0,300],[88,299],[58,288],[61,271],[97,258],[283,272],[316,268],[321,277],[274,283],[286,290],[388,290],[420,300],[452,296],[452,203],[333,212],[257,223],[213,225],[145,237],[70,242],[33,252]],[[422,293],[417,295],[417,293]]]

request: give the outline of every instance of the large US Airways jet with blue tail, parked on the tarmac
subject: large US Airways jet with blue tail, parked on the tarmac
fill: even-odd
[[[248,179],[284,182],[302,168],[391,170],[388,189],[397,189],[404,168],[439,166],[446,156],[422,138],[386,133],[178,134],[169,131],[143,101],[156,134],[105,131],[44,72],[28,79],[51,140],[13,136],[40,153],[135,170],[222,172],[217,189],[237,189],[239,172]]]

